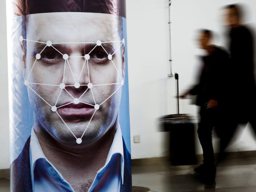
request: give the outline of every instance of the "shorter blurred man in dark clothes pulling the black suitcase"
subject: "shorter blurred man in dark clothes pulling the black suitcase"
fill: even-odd
[[[219,110],[223,106],[223,89],[225,82],[221,78],[229,63],[229,55],[222,48],[211,45],[212,32],[201,30],[199,45],[207,52],[202,57],[203,66],[198,85],[185,95],[197,95],[196,104],[201,107],[201,121],[198,125],[198,137],[203,149],[203,164],[194,171],[199,173],[215,173],[215,158],[212,145],[212,130],[218,124]]]

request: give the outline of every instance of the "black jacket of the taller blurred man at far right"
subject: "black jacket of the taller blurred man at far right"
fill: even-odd
[[[256,106],[255,85],[255,32],[249,26],[232,28],[230,31],[230,54],[232,61],[233,87],[231,91],[234,119],[239,123],[247,123],[249,117],[254,118]]]

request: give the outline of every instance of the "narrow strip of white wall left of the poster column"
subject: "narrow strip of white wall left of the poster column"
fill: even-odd
[[[9,168],[9,115],[5,1],[0,1],[0,26],[0,169],[7,169]]]

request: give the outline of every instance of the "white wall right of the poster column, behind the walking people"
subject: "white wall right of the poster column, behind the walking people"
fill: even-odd
[[[156,125],[161,115],[176,113],[174,78],[169,73],[168,0],[127,0],[128,69],[131,123],[132,158],[161,157],[166,155],[165,133],[159,133]],[[195,82],[199,67],[195,45],[195,30],[209,28],[223,33],[221,7],[232,0],[172,0],[171,40],[173,71],[179,73],[180,90],[186,90]],[[256,1],[244,0],[251,9]],[[250,10],[251,20],[256,14]],[[223,35],[223,34],[222,34]],[[225,41],[218,37],[219,45]],[[190,101],[180,101],[180,112],[197,115],[197,107]],[[238,134],[229,151],[256,150],[256,142],[247,126]],[[140,135],[141,143],[133,143],[133,136]],[[197,135],[196,135],[197,138]],[[213,139],[217,151],[218,139]],[[202,149],[197,139],[197,153]]]

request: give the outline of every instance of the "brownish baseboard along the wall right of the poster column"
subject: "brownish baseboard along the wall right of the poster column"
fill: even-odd
[[[217,157],[218,153],[214,154]],[[196,155],[197,161],[203,161],[203,155]],[[229,152],[225,159],[241,159],[241,158],[253,158],[256,157],[256,151],[238,151]],[[132,159],[131,166],[145,166],[145,165],[161,165],[169,163],[168,157],[153,157],[153,158],[142,158],[142,159]]]

